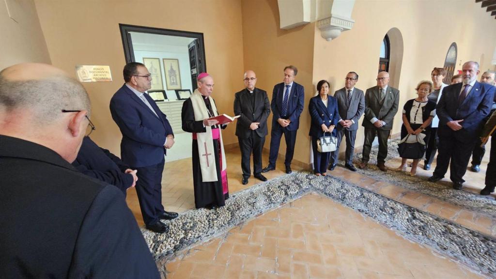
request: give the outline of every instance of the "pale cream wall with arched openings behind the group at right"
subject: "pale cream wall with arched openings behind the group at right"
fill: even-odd
[[[352,18],[355,20],[353,29],[331,42],[325,41],[315,28],[313,84],[327,79],[334,92],[344,86],[346,73],[353,70],[360,75],[358,88],[365,91],[374,86],[380,43],[388,30],[396,27],[404,40],[404,52],[398,88],[400,108],[393,133],[400,131],[404,103],[415,98],[414,88],[420,80],[431,79],[434,67],[443,67],[452,42],[458,45],[456,70],[461,70],[460,60],[479,61],[482,54],[485,54],[482,67],[492,68],[496,20],[481,8],[480,3],[467,0],[357,0]],[[356,146],[363,145],[363,140],[364,130],[360,126]]]

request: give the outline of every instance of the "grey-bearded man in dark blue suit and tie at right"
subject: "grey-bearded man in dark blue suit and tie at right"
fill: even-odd
[[[477,62],[466,62],[462,72],[463,82],[446,86],[436,106],[439,149],[434,174],[429,178],[432,182],[441,180],[450,165],[455,190],[463,187],[463,175],[495,94],[494,86],[477,81]]]

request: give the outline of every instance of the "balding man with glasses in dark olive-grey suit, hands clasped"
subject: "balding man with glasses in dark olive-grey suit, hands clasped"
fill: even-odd
[[[372,142],[377,135],[379,139],[377,167],[381,171],[387,171],[384,165],[387,156],[387,139],[393,128],[394,115],[398,112],[400,91],[387,85],[389,83],[387,71],[379,72],[376,80],[377,86],[365,92],[365,118],[362,122],[362,126],[365,127],[365,140],[359,168],[367,167]]]

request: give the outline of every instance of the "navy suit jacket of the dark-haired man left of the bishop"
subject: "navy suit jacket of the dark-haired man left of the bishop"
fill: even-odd
[[[165,139],[173,135],[166,115],[155,101],[145,94],[155,115],[125,84],[110,100],[112,118],[121,130],[121,157],[132,167],[158,164],[164,159]]]

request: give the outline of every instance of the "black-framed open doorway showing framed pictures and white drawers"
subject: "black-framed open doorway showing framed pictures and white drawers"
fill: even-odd
[[[196,77],[206,71],[203,34],[120,24],[126,63],[143,63],[152,74],[148,94],[167,115],[176,144],[165,161],[191,157],[191,136],[183,132],[183,102],[196,89]]]

